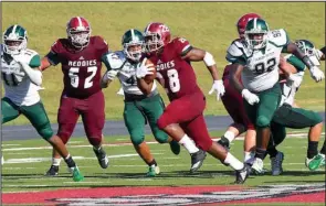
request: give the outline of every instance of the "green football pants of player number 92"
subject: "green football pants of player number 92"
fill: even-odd
[[[278,107],[281,100],[280,84],[275,84],[273,88],[256,94],[260,102],[250,105],[245,99],[244,108],[248,117],[254,122],[256,128],[270,127],[273,115]]]

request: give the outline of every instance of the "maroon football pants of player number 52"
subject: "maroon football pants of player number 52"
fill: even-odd
[[[104,95],[98,91],[86,99],[77,99],[62,96],[57,112],[59,130],[57,135],[64,143],[71,138],[78,117],[92,145],[98,145],[102,141],[102,130],[105,122]]]

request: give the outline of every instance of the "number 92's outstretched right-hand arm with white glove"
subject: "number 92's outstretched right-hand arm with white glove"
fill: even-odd
[[[313,79],[315,79],[316,82],[320,82],[322,79],[325,78],[324,73],[318,68],[318,66],[316,66],[312,59],[305,55],[294,43],[288,43],[286,45],[286,51],[288,53],[292,53],[293,55],[295,55],[296,57],[298,57],[299,59],[302,59],[302,62],[308,67],[309,72],[311,72],[311,76]]]

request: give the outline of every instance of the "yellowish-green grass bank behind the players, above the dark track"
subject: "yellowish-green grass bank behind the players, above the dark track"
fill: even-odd
[[[186,37],[193,46],[211,52],[221,74],[227,64],[225,50],[236,37],[234,24],[246,12],[260,13],[271,29],[286,29],[292,40],[308,39],[317,47],[324,45],[323,2],[4,2],[2,30],[13,23],[23,25],[29,32],[29,47],[43,56],[57,37],[66,36],[65,24],[74,15],[85,17],[92,24],[93,34],[104,36],[112,50],[120,48],[120,37],[126,30],[144,30],[150,21],[160,21],[175,36]],[[203,63],[193,65],[199,85],[207,94],[211,87],[209,72]],[[43,86],[46,89],[41,95],[54,122],[62,90],[60,67],[44,72]],[[105,89],[107,119],[122,119],[123,98],[116,95],[118,88],[115,82]],[[167,99],[165,95],[164,98]],[[303,107],[325,110],[325,82],[315,84],[307,74],[297,100]],[[227,111],[221,102],[209,96],[206,113],[225,115]],[[27,123],[27,120],[19,118],[9,123]]]

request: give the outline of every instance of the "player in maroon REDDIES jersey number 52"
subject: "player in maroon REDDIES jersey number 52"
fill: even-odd
[[[82,116],[86,137],[93,145],[102,169],[108,166],[108,158],[102,147],[105,122],[104,95],[101,88],[102,57],[108,52],[101,36],[91,36],[86,19],[72,18],[66,24],[66,39],[59,39],[42,58],[41,69],[61,64],[64,88],[57,112],[57,135],[69,141],[77,119]],[[46,175],[57,175],[60,156],[53,150],[52,165]]]

